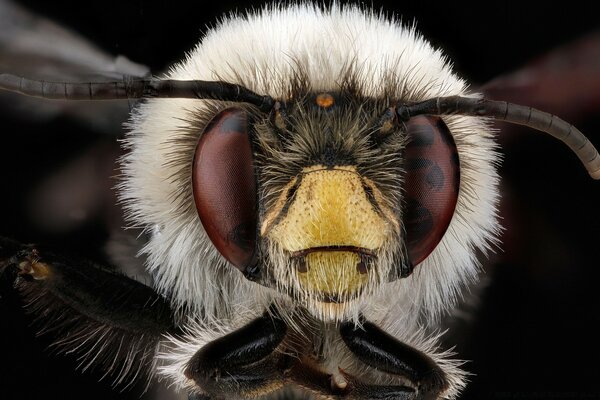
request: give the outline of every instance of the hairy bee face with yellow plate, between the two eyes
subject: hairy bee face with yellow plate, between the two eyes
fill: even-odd
[[[286,107],[284,129],[257,128],[268,275],[279,291],[331,316],[403,264],[405,140],[398,128],[375,144],[384,108],[346,96],[305,94]]]

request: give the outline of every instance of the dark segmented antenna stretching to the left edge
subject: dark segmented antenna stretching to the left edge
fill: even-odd
[[[47,82],[0,74],[0,89],[55,100],[127,100],[143,97],[214,99],[250,103],[270,111],[275,100],[243,86],[219,81],[129,79],[110,82]]]

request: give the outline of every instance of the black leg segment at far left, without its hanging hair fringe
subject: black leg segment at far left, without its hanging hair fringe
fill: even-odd
[[[169,306],[152,288],[99,265],[0,238],[0,273],[34,300],[34,308],[35,302],[60,302],[59,307],[140,334],[161,335],[174,327]]]

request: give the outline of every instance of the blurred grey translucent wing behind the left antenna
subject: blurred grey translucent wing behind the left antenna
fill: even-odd
[[[0,0],[0,71],[48,81],[102,81],[145,77],[146,66],[107,54],[76,32]],[[118,134],[127,118],[127,101],[44,101],[0,92],[0,109],[13,118],[40,122],[75,118],[91,129]]]

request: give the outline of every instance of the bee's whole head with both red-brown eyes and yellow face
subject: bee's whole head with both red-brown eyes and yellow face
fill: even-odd
[[[410,275],[458,197],[456,146],[440,118],[403,123],[389,98],[308,92],[216,112],[193,166],[198,214],[247,278],[321,316]]]

